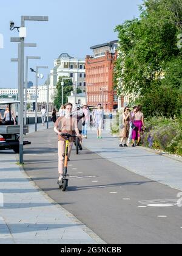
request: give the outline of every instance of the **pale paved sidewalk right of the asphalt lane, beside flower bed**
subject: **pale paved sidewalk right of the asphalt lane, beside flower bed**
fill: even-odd
[[[96,132],[90,131],[83,145],[92,152],[122,166],[140,176],[155,180],[182,191],[182,163],[143,147],[119,148],[119,138],[103,132],[103,139],[96,138]]]

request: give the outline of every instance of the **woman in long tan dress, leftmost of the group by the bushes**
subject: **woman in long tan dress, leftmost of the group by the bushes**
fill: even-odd
[[[123,148],[123,146],[127,147],[126,141],[129,138],[130,121],[131,121],[130,109],[129,107],[125,107],[124,113],[123,113],[123,129],[121,130],[121,133],[120,133],[120,137],[121,137],[120,148]]]

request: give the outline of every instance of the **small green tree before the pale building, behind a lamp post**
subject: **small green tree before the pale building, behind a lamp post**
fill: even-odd
[[[57,109],[60,108],[62,104],[62,78],[64,79],[64,88],[63,88],[63,104],[66,104],[68,101],[68,96],[70,96],[71,91],[73,91],[73,82],[69,77],[59,77],[58,84],[56,85],[56,92],[54,96],[54,105]]]

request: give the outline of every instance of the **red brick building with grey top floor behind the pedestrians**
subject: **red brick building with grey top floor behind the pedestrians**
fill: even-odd
[[[113,90],[113,63],[117,57],[118,41],[92,46],[93,56],[86,57],[87,104],[103,104],[104,110],[118,108],[118,98]]]

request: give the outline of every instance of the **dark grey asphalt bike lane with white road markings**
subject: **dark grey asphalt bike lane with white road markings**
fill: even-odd
[[[76,155],[73,147],[69,188],[62,192],[56,185],[58,138],[53,129],[27,138],[32,142],[24,155],[29,177],[106,243],[181,243],[180,191],[134,174],[86,148]]]

